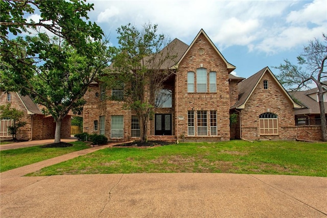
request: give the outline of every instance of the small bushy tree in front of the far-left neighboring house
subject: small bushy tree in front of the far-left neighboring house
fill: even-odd
[[[21,121],[24,116],[24,112],[17,110],[16,108],[10,108],[10,104],[0,106],[0,119],[11,119],[11,126],[8,127],[10,135],[13,140],[17,140],[17,132],[20,127],[24,127],[26,122]]]

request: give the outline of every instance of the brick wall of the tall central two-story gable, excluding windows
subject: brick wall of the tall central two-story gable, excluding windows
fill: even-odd
[[[199,49],[203,49],[204,53],[199,54]],[[209,71],[217,72],[217,92],[215,93],[188,93],[187,74],[188,71],[195,72],[195,91],[196,91],[196,70],[200,67],[207,70],[207,90],[209,90]],[[179,64],[178,70],[178,114],[183,117],[178,120],[178,134],[188,138],[188,110],[216,110],[217,111],[217,136],[210,136],[208,128],[208,136],[200,136],[198,138],[214,138],[216,140],[229,140],[229,86],[228,71],[226,64],[215,51],[214,47],[209,43],[203,34],[201,34],[191,47],[190,51]],[[196,113],[195,113],[196,124]],[[208,116],[208,126],[209,126]],[[196,131],[195,125],[195,132]],[[176,130],[177,132],[177,130]],[[197,136],[197,133],[195,133]],[[194,138],[194,137],[190,137]]]

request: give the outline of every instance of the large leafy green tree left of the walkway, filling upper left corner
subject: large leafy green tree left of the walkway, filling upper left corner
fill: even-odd
[[[109,62],[103,32],[86,22],[92,4],[83,1],[1,1],[1,85],[30,95],[56,122],[60,142],[62,119],[80,113],[89,84]],[[40,20],[27,20],[34,10]],[[31,35],[34,31],[35,35]],[[44,32],[45,30],[45,32]],[[25,38],[12,35],[24,32]],[[10,34],[11,33],[11,34]]]

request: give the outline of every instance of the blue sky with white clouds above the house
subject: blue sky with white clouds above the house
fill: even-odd
[[[132,23],[158,25],[158,33],[190,45],[201,29],[225,59],[233,74],[248,78],[268,66],[275,75],[288,59],[296,63],[303,46],[327,34],[327,0],[207,1],[120,0],[87,1],[88,13],[117,46],[117,28]]]

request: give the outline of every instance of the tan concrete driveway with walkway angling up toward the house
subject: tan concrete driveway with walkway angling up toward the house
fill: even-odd
[[[1,173],[0,216],[327,217],[327,178],[322,177],[205,173],[24,177],[110,146]]]

